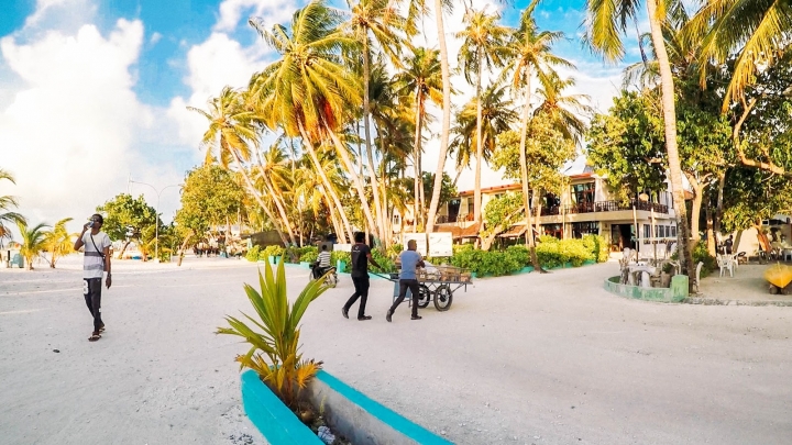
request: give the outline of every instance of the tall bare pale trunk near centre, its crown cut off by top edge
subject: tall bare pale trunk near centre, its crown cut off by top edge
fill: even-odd
[[[435,19],[437,21],[438,41],[440,44],[440,73],[443,82],[443,115],[442,132],[440,133],[440,154],[438,156],[438,167],[435,171],[435,187],[432,188],[432,199],[429,204],[429,215],[427,218],[426,232],[435,231],[435,218],[438,207],[440,205],[440,190],[442,189],[443,170],[446,169],[446,157],[448,156],[448,138],[451,129],[451,79],[448,66],[448,48],[446,46],[446,29],[443,26],[443,1],[435,0]]]

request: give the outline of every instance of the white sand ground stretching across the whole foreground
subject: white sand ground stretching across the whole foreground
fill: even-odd
[[[116,262],[89,343],[78,260],[0,269],[0,444],[263,443],[240,410],[245,347],[213,334],[250,312],[255,265]],[[393,323],[378,279],[374,320],[344,320],[342,275],[302,351],[458,444],[792,443],[792,308],[626,300],[602,290],[616,267],[480,279],[450,311],[410,321],[405,303]],[[296,297],[308,270],[287,275]]]

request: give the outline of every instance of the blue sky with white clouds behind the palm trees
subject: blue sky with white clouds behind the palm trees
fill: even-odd
[[[334,0],[333,0],[334,1]],[[488,1],[488,0],[485,0]],[[485,1],[476,1],[483,7]],[[251,75],[277,58],[250,16],[288,23],[305,0],[3,0],[0,14],[0,196],[18,198],[31,224],[74,218],[79,225],[97,205],[121,192],[144,194],[165,222],[179,207],[186,171],[205,156],[206,108],[224,86],[244,87]],[[461,2],[458,2],[461,4]],[[495,1],[516,24],[527,0]],[[338,3],[346,9],[345,2]],[[618,91],[619,65],[604,64],[584,48],[584,0],[543,0],[536,18],[542,30],[563,31],[554,52],[573,62],[574,92],[606,111]],[[451,68],[457,66],[463,8],[446,16]],[[647,29],[645,22],[641,29]],[[433,18],[416,43],[437,46]],[[635,35],[625,40],[626,63],[638,56]],[[452,79],[460,107],[473,88]],[[438,109],[430,109],[440,121]],[[439,125],[426,144],[425,170],[435,171]],[[580,163],[578,165],[580,167]],[[446,169],[452,177],[453,160]],[[505,183],[484,169],[484,187]],[[130,180],[135,182],[130,182]],[[138,183],[144,182],[144,183]],[[465,171],[459,189],[472,189]]]

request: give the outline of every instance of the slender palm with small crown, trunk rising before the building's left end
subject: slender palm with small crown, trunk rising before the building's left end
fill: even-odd
[[[530,190],[528,182],[528,165],[526,157],[526,143],[528,137],[528,121],[530,118],[531,107],[531,78],[537,76],[540,81],[547,80],[552,74],[553,66],[573,65],[550,53],[550,46],[553,42],[563,37],[563,33],[541,31],[539,32],[536,21],[534,20],[534,10],[539,0],[531,0],[528,8],[522,12],[520,24],[517,32],[512,36],[509,49],[512,52],[512,60],[504,75],[512,77],[512,89],[515,92],[524,92],[525,103],[522,105],[522,118],[520,122],[520,179],[522,182],[522,200],[526,211],[526,244],[531,253],[531,263],[537,270],[543,270],[539,265],[539,258],[536,255],[536,242],[534,232],[530,230],[531,209],[530,209]]]

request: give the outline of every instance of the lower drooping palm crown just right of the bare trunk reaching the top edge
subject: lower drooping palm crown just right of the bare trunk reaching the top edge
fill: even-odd
[[[481,152],[482,159],[490,162],[498,134],[509,130],[518,119],[513,104],[506,98],[506,87],[491,86],[482,96],[481,105],[477,99],[473,99],[457,113],[457,125],[453,127],[457,136],[450,146],[450,153],[455,154],[457,158],[454,185],[460,173],[470,166],[474,153],[477,157]],[[477,149],[479,145],[481,151]]]

